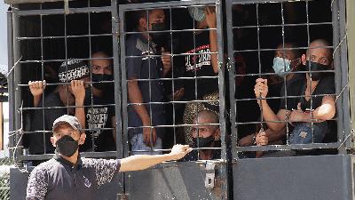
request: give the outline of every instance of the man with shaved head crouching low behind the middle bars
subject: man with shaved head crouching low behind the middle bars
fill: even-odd
[[[220,148],[220,132],[218,116],[209,110],[202,110],[193,119],[193,146],[195,148]],[[211,160],[221,158],[220,149],[203,149],[193,151],[185,156],[184,161]]]

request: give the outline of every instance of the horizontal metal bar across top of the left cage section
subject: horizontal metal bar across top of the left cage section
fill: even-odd
[[[83,8],[69,8],[69,14],[88,13],[88,12],[111,12],[111,6],[102,7],[83,7]],[[46,10],[19,10],[18,8],[12,8],[12,12],[18,16],[33,16],[33,15],[54,15],[65,14],[63,9],[46,9]]]

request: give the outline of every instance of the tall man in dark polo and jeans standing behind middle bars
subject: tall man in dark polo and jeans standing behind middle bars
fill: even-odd
[[[170,55],[167,55],[170,52],[165,52],[163,48],[157,49],[157,43],[161,43],[159,39],[161,35],[148,32],[160,31],[164,28],[163,10],[141,11],[137,16],[136,31],[140,33],[128,38],[126,43],[128,57],[125,59],[128,99],[130,103],[134,103],[128,107],[128,125],[135,127],[129,131],[133,153],[137,153],[135,150],[162,148],[164,130],[150,126],[165,124],[164,105],[149,103],[163,102],[163,86],[160,78],[165,77],[170,71]],[[156,56],[160,52],[162,56]]]

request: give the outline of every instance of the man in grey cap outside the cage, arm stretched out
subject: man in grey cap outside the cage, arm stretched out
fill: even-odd
[[[170,154],[139,155],[122,159],[81,158],[78,147],[85,133],[75,116],[60,116],[52,126],[55,156],[36,166],[28,179],[27,200],[91,200],[97,188],[110,182],[115,172],[144,170],[165,161],[177,160],[192,148],[176,145]]]

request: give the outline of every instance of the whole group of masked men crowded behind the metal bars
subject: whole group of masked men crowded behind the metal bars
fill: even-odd
[[[34,110],[31,130],[48,131],[59,116],[75,116],[86,137],[80,151],[111,151],[116,148],[115,120],[127,120],[131,155],[162,154],[161,149],[171,147],[169,141],[177,140],[170,132],[182,132],[179,142],[206,148],[185,159],[220,158],[217,59],[222,55],[217,53],[216,11],[191,7],[188,12],[195,30],[182,35],[184,42],[177,47],[168,45],[174,43],[166,34],[164,10],[135,13],[135,34],[127,35],[121,60],[127,119],[114,112],[112,57],[93,52],[90,60],[64,61],[53,92],[45,92],[45,81],[28,83],[34,107],[47,108]],[[333,69],[329,46],[323,39],[312,41],[306,52],[292,42],[275,45],[273,74],[259,76],[254,87],[262,124],[238,138],[239,146],[324,141],[335,117],[334,73],[327,72]],[[166,127],[176,124],[181,126]],[[30,154],[54,153],[51,131],[44,135],[31,134]]]

